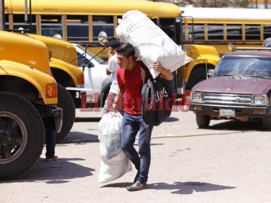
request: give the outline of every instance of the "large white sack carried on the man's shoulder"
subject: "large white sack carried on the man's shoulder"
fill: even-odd
[[[140,11],[132,10],[118,19],[116,27],[118,39],[131,43],[136,54],[156,78],[159,73],[153,69],[153,63],[159,60],[165,69],[173,72],[188,63],[192,58],[173,42],[166,33]]]

